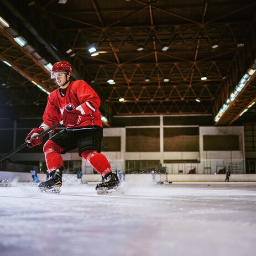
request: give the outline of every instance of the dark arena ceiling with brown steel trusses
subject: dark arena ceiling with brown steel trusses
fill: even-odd
[[[244,74],[256,69],[254,0],[0,3],[0,16],[9,23],[0,26],[0,59],[12,65],[0,62],[1,116],[42,115],[47,94],[35,84],[55,90],[49,62],[69,61],[75,79],[97,91],[109,121],[134,114],[214,118]],[[25,45],[14,40],[18,36]],[[89,53],[91,46],[97,56]],[[217,125],[232,124],[255,102],[255,75]],[[254,111],[247,118],[253,120]]]

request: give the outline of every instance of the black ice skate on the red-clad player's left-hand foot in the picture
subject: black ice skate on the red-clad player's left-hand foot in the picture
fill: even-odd
[[[63,167],[61,166],[59,170],[51,171],[49,180],[40,182],[38,185],[39,190],[45,193],[60,193],[60,187],[62,186],[62,172]]]

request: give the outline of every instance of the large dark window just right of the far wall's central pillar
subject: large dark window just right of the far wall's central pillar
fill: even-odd
[[[199,151],[198,127],[164,128],[164,151]]]

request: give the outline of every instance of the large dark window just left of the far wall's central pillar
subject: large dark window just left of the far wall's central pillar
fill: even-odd
[[[160,151],[159,128],[127,128],[127,152],[156,152]]]

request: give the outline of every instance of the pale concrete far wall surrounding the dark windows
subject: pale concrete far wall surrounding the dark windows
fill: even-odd
[[[105,137],[119,136],[121,137],[121,151],[108,151],[102,152],[106,155],[111,168],[113,170],[125,171],[127,160],[159,160],[162,166],[166,166],[168,174],[187,174],[189,170],[196,168],[196,174],[215,174],[218,170],[228,166],[232,166],[232,173],[242,174],[244,173],[245,166],[245,152],[244,152],[244,132],[243,127],[199,127],[199,126],[164,126],[163,115],[160,115],[159,126],[134,126],[126,128],[159,128],[160,129],[160,151],[156,152],[126,152],[126,128],[104,128],[103,135]],[[199,143],[200,151],[198,152],[166,152],[164,151],[164,128],[175,127],[177,129],[181,127],[198,127],[199,128]],[[241,150],[237,151],[204,151],[203,150],[203,135],[239,135],[241,144]],[[152,145],[154,147],[154,145]],[[82,173],[93,174],[92,166],[82,159],[77,153],[67,153],[62,155],[63,160],[79,160],[82,161]],[[16,153],[11,156],[13,161],[22,160],[44,160],[44,154],[22,154]],[[194,160],[200,163],[164,163],[166,160]]]

